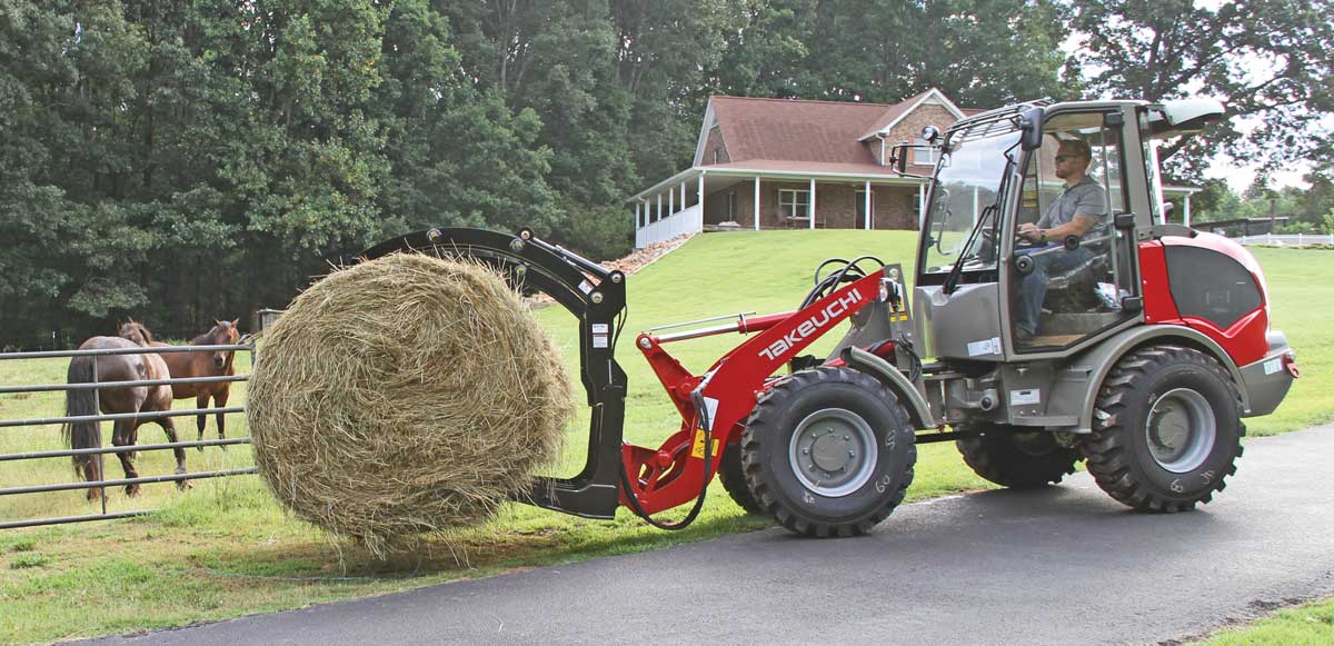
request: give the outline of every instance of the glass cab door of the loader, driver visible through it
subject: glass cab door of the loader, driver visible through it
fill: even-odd
[[[1002,252],[1011,355],[1067,354],[1139,316],[1133,230],[1115,227],[1129,208],[1123,128],[1119,108],[1043,120]]]

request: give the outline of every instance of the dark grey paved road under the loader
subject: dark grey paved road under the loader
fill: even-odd
[[[1334,593],[1334,426],[1250,442],[1191,514],[1086,474],[908,505],[859,539],[782,530],[113,643],[1154,643]]]

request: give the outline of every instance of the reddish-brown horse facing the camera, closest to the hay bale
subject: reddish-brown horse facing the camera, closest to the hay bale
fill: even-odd
[[[213,327],[195,336],[191,342],[192,346],[235,346],[240,342],[240,334],[236,331],[236,320],[215,320]],[[153,340],[152,334],[148,331],[143,323],[136,323],[129,319],[128,323],[120,326],[120,336],[129,339],[135,343],[147,343],[152,347],[168,347],[167,343],[160,343]],[[232,366],[232,359],[235,359],[235,352],[228,351],[211,351],[211,352],[163,352],[161,358],[167,362],[167,370],[171,371],[172,379],[183,379],[191,376],[231,376],[236,374],[236,368]],[[227,406],[227,398],[231,395],[231,382],[220,383],[175,383],[172,384],[172,398],[187,399],[195,398],[196,408],[207,408],[208,400],[212,398],[213,406],[217,408]],[[217,439],[227,436],[227,422],[225,415],[221,412],[217,416]],[[207,415],[199,415],[199,439],[204,439],[204,426],[207,424]],[[225,448],[225,447],[224,447]],[[204,447],[199,447],[200,451]]]

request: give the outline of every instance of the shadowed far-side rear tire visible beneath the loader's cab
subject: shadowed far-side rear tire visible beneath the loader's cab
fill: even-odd
[[[1075,472],[1083,459],[1078,448],[1057,443],[1045,430],[1023,430],[1003,424],[963,427],[980,435],[955,442],[972,472],[1010,489],[1035,489],[1059,483]]]

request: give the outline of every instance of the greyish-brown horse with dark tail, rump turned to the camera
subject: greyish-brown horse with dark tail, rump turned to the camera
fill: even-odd
[[[93,336],[84,340],[79,350],[131,350],[137,347],[147,347],[143,343],[135,343],[128,339],[121,339],[119,336]],[[96,362],[96,368],[93,367]],[[147,380],[147,379],[167,379],[169,372],[167,371],[167,363],[156,354],[127,354],[127,355],[100,355],[100,356],[75,356],[69,362],[69,370],[65,374],[65,380],[68,383],[97,383],[97,382],[129,382],[129,380]],[[169,386],[131,386],[124,388],[97,388],[97,390],[67,390],[65,391],[65,415],[67,416],[85,416],[96,415],[99,408],[104,414],[113,412],[156,412],[156,411],[169,411],[171,410],[171,387]],[[147,422],[155,422],[157,426],[163,427],[167,432],[167,439],[169,442],[179,442],[176,435],[176,426],[172,423],[172,418],[156,418],[156,419],[119,419],[116,420],[115,432],[111,436],[111,443],[113,446],[135,446],[139,442],[139,426]],[[69,448],[100,448],[101,447],[101,423],[100,422],[69,422],[63,426],[63,432],[65,436],[65,444]],[[176,454],[176,472],[185,472],[185,451],[180,447],[175,448]],[[125,472],[127,479],[139,478],[139,471],[135,470],[135,452],[125,451],[116,454],[120,458],[120,467]],[[73,466],[75,474],[81,476],[85,482],[97,482],[103,479],[101,460],[100,455],[75,455]],[[176,486],[181,490],[189,487],[185,480],[179,480]],[[99,489],[88,490],[88,499],[95,501],[100,495]],[[139,485],[131,483],[125,485],[125,495],[133,498],[139,495]]]

